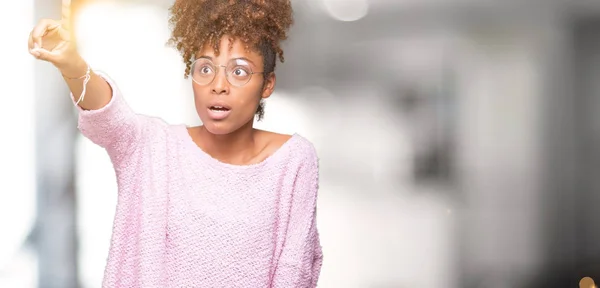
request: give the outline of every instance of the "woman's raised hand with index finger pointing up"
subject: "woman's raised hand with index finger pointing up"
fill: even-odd
[[[71,0],[62,0],[62,19],[40,20],[29,35],[29,53],[60,70],[76,70],[74,67],[81,66],[81,57],[71,42],[70,21]]]

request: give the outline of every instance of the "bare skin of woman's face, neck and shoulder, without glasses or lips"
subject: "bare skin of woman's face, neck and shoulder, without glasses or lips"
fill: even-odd
[[[253,71],[262,71],[263,57],[258,51],[246,50],[239,39],[234,40],[231,49],[229,45],[229,37],[224,36],[219,43],[218,56],[210,45],[206,45],[196,58],[209,57],[216,65],[246,58]],[[233,165],[259,163],[291,137],[253,128],[260,100],[269,98],[273,93],[275,73],[267,76],[254,74],[246,85],[236,87],[229,84],[221,67],[210,84],[202,86],[191,82],[196,112],[203,125],[188,128],[188,133],[196,145],[213,158]],[[208,116],[208,107],[216,100],[231,107],[230,115],[223,120],[213,120]]]

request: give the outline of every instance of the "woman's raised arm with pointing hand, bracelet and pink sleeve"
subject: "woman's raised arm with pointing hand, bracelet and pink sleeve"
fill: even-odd
[[[82,134],[106,148],[113,160],[123,159],[139,142],[141,119],[106,75],[88,70],[72,36],[71,0],[62,0],[61,20],[42,19],[29,35],[29,52],[63,75],[78,105]]]

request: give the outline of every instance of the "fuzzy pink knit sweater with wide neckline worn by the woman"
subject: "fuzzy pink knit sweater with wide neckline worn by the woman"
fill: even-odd
[[[226,164],[184,125],[135,114],[98,74],[112,99],[79,109],[79,129],[106,149],[119,187],[103,287],[316,287],[318,159],[308,140],[295,134],[258,164]]]

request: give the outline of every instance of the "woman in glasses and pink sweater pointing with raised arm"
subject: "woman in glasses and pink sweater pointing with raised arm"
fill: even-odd
[[[315,287],[318,159],[298,134],[253,128],[275,88],[289,0],[177,0],[169,41],[203,125],[134,113],[94,72],[63,19],[42,20],[30,53],[62,73],[82,134],[108,152],[118,204],[104,287]],[[165,95],[165,97],[168,97]]]

